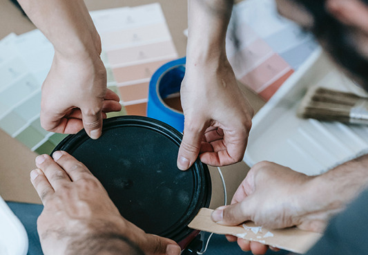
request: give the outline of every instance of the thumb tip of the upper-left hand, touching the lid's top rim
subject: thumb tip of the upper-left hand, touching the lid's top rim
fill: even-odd
[[[83,120],[83,126],[86,130],[86,133],[92,139],[97,139],[101,136],[102,132],[102,113],[101,109],[98,112],[90,111],[81,111],[81,117]]]

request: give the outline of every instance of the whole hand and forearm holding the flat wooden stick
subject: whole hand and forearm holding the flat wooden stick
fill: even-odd
[[[297,226],[323,232],[331,216],[345,209],[368,185],[368,155],[341,164],[320,176],[306,176],[272,162],[255,164],[235,192],[231,205],[217,208],[213,220],[239,225],[252,220],[270,229]],[[244,250],[267,252],[267,246],[235,236]]]

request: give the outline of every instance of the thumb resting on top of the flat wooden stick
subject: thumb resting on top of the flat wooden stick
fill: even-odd
[[[246,200],[233,205],[226,205],[212,212],[212,220],[220,225],[240,225],[246,220],[251,220],[251,210],[246,205]]]

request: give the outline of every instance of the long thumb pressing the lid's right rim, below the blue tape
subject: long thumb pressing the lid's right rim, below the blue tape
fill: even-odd
[[[180,170],[191,167],[200,153],[205,128],[198,123],[200,122],[184,122],[183,140],[177,155],[177,168]]]

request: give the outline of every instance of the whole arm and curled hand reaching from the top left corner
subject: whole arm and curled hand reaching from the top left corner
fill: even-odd
[[[106,112],[120,111],[119,97],[106,88],[101,40],[82,0],[19,0],[55,48],[42,86],[41,125],[57,133],[101,135]]]

